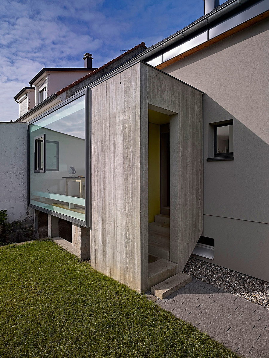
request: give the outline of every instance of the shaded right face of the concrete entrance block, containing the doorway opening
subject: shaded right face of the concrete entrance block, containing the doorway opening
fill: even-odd
[[[184,269],[202,233],[202,93],[148,66],[151,108],[170,113],[170,261]]]

